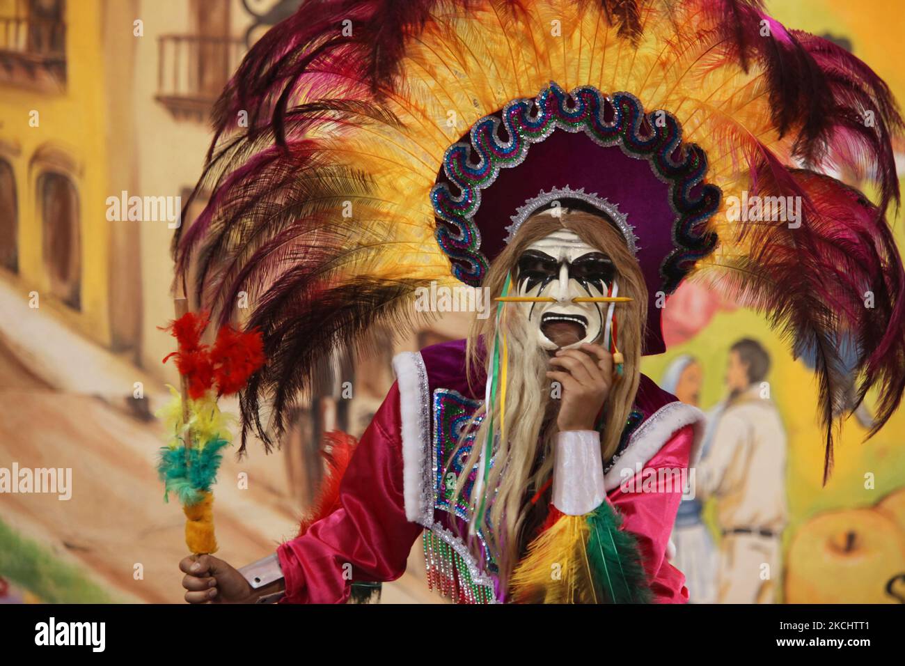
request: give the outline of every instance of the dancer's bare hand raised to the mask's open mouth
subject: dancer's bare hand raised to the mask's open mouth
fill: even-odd
[[[597,414],[613,386],[613,354],[599,344],[560,349],[550,359],[548,378],[558,381],[563,393],[557,426],[566,430],[594,430]]]

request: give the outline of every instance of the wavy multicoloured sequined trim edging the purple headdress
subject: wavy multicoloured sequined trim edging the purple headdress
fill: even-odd
[[[612,111],[612,121],[605,121],[605,109]],[[443,154],[443,171],[460,194],[454,196],[445,182],[431,189],[434,214],[445,223],[437,227],[437,243],[452,260],[453,275],[478,286],[487,272],[481,233],[473,219],[481,206],[481,190],[491,186],[500,169],[524,161],[532,144],[562,129],[584,131],[598,145],[619,146],[630,157],[647,159],[654,175],[670,186],[670,205],[676,213],[672,225],[675,248],[663,260],[660,273],[664,291],[672,292],[695,262],[716,246],[716,234],[700,230],[698,224],[716,212],[720,191],[702,184],[692,197],[691,189],[707,172],[707,156],[697,144],[681,143],[681,127],[670,113],[649,113],[646,123],[644,117],[641,102],[628,92],[607,97],[593,86],[582,86],[567,93],[550,82],[536,99],[510,101],[501,118],[490,115],[475,122],[471,141],[454,143]],[[500,140],[500,123],[508,140]],[[477,164],[472,164],[472,151],[477,154]],[[679,159],[672,159],[673,155]]]

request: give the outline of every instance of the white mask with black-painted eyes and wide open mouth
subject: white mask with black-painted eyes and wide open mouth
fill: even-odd
[[[532,243],[519,256],[519,296],[552,296],[552,303],[519,303],[538,335],[555,351],[594,343],[604,333],[607,304],[575,303],[578,296],[605,296],[613,283],[613,261],[575,232],[561,229]]]

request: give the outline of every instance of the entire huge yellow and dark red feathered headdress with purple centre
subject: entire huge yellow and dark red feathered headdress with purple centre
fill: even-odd
[[[320,357],[404,318],[418,286],[478,284],[519,211],[565,186],[624,214],[651,292],[710,275],[813,356],[826,473],[851,372],[859,401],[880,389],[874,430],[900,402],[905,272],[884,220],[900,115],[864,63],[757,0],[306,3],[254,45],[214,124],[177,271],[221,322],[238,294],[255,304],[269,362],[243,417],[268,445]],[[582,159],[549,169],[558,154]],[[803,213],[730,219],[750,196]]]

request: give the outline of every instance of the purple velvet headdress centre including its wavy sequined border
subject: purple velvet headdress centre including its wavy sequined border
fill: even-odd
[[[551,82],[537,99],[481,118],[446,150],[431,190],[437,242],[453,275],[477,286],[531,213],[553,200],[599,210],[641,265],[649,292],[644,353],[660,353],[657,293],[672,293],[716,246],[705,223],[720,192],[706,173],[704,151],[681,142],[669,113],[645,115],[627,92],[567,93]]]

